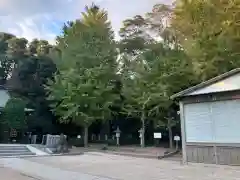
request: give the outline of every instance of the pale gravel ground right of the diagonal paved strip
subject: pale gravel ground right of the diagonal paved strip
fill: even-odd
[[[64,170],[69,174],[84,173],[99,179],[240,180],[240,167],[206,164],[181,165],[174,161],[134,158],[98,152],[89,152],[80,156],[38,157],[26,160],[42,164],[44,167],[57,168],[59,172]]]

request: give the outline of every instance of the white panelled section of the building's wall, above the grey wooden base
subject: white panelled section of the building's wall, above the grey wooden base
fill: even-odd
[[[240,143],[240,100],[184,105],[186,142]]]

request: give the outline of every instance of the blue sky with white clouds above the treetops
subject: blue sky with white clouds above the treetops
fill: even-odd
[[[143,15],[164,1],[167,0],[0,0],[0,32],[54,43],[63,23],[79,18],[85,5],[94,2],[108,11],[117,33],[123,20]]]

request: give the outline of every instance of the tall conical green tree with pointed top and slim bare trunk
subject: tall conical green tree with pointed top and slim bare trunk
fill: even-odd
[[[110,108],[118,98],[113,91],[116,48],[107,14],[95,5],[86,9],[83,18],[59,38],[62,55],[58,73],[46,87],[60,122],[84,127],[85,146],[88,127],[96,120],[108,120]]]

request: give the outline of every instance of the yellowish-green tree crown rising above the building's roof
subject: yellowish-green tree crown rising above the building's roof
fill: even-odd
[[[240,66],[239,0],[177,0],[172,26],[201,80]]]

